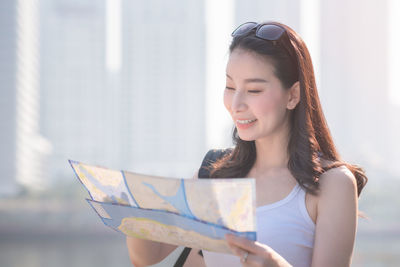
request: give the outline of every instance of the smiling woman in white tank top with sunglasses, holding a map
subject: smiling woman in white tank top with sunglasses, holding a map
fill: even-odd
[[[226,236],[234,256],[203,251],[204,262],[350,266],[367,178],[336,151],[306,45],[277,22],[244,23],[232,36],[224,104],[235,147],[207,153],[198,177],[255,178],[258,241]],[[133,262],[138,242],[128,238]],[[157,260],[175,248],[146,242]],[[192,251],[186,266],[199,257]]]

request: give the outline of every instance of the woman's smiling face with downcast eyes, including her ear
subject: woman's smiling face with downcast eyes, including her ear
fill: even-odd
[[[229,56],[224,105],[242,140],[288,133],[289,109],[298,103],[296,85],[285,89],[274,70],[270,59],[240,48]]]

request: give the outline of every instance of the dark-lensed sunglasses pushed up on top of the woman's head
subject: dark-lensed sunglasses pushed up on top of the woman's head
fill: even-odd
[[[243,35],[256,28],[256,37],[272,42],[273,45],[281,44],[292,60],[296,59],[293,47],[290,43],[286,29],[275,24],[258,24],[257,22],[245,22],[231,33],[232,37]]]

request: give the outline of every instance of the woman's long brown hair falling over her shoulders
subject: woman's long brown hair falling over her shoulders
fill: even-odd
[[[300,83],[300,101],[291,110],[290,136],[288,144],[288,169],[300,186],[311,194],[317,194],[319,177],[325,171],[338,166],[346,166],[357,180],[357,193],[360,195],[368,179],[362,168],[344,162],[336,150],[331,133],[322,112],[310,54],[300,36],[290,27],[278,22],[265,22],[286,29],[293,54],[292,58],[283,47],[255,36],[255,30],[235,36],[229,46],[229,52],[242,49],[254,52],[260,57],[268,57],[275,67],[275,75],[285,88],[295,82]],[[233,131],[235,148],[231,153],[211,165],[210,177],[245,177],[256,160],[254,141],[244,141]],[[320,158],[332,162],[323,167]]]

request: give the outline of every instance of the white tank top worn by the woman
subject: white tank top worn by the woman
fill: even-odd
[[[315,224],[305,205],[306,192],[297,183],[284,199],[258,207],[257,241],[270,246],[294,267],[311,266]],[[207,267],[241,266],[234,255],[203,251]]]

